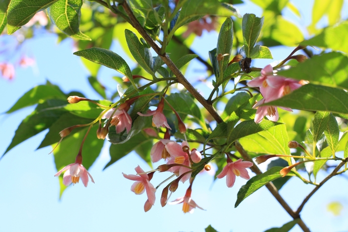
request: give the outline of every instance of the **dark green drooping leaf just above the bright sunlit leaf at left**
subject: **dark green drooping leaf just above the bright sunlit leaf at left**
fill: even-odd
[[[90,119],[81,118],[69,112],[64,113],[57,121],[55,121],[49,127],[49,132],[47,132],[44,140],[41,142],[40,146],[37,149],[44,148],[46,146],[57,143],[61,139],[59,132],[61,132],[65,128],[68,128],[74,125],[87,124],[90,122],[91,122]],[[68,138],[69,136],[73,136],[76,132],[83,129],[85,129],[85,127],[78,127],[74,129],[72,133],[65,138]]]

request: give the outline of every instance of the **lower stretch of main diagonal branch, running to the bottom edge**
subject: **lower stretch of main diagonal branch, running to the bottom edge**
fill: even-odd
[[[244,150],[242,145],[235,141],[235,147],[237,151],[242,155],[243,159],[253,162],[254,160],[248,155],[248,153]],[[257,175],[261,174],[260,168],[254,163],[254,165],[250,168],[253,172],[255,172]],[[269,192],[273,195],[273,197],[279,202],[279,204],[284,208],[284,210],[293,218],[293,219],[299,219],[298,225],[301,227],[302,231],[304,232],[310,232],[309,228],[304,224],[302,219],[300,218],[299,214],[296,214],[291,207],[285,202],[285,200],[280,196],[277,188],[274,186],[272,182],[267,183],[266,188],[269,190]]]

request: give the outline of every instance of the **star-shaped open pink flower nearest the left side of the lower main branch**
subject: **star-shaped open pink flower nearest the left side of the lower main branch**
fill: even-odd
[[[236,176],[240,176],[244,179],[249,180],[250,176],[246,168],[253,166],[253,163],[242,160],[243,159],[240,158],[235,162],[227,161],[228,163],[226,164],[226,166],[224,166],[220,174],[218,174],[216,177],[221,179],[222,177],[226,176],[226,184],[229,188],[231,188],[234,185],[236,181]]]

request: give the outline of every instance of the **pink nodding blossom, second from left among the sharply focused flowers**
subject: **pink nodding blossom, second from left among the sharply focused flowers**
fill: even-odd
[[[114,110],[114,108],[108,110],[101,118],[109,119]],[[126,129],[127,133],[129,133],[132,127],[132,118],[129,116],[126,110],[117,109],[112,116],[110,124],[116,126],[116,133],[121,133],[124,129]]]

